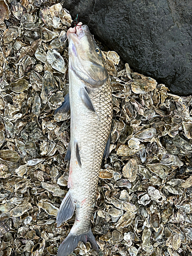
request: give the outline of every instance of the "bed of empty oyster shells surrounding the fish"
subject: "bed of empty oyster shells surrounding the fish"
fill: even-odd
[[[61,4],[0,1],[0,254],[56,255],[74,216],[56,227],[67,193],[72,22]],[[103,50],[103,46],[99,44]],[[133,72],[103,51],[114,116],[92,228],[100,255],[192,252],[192,96]],[[72,255],[96,255],[79,242]]]

